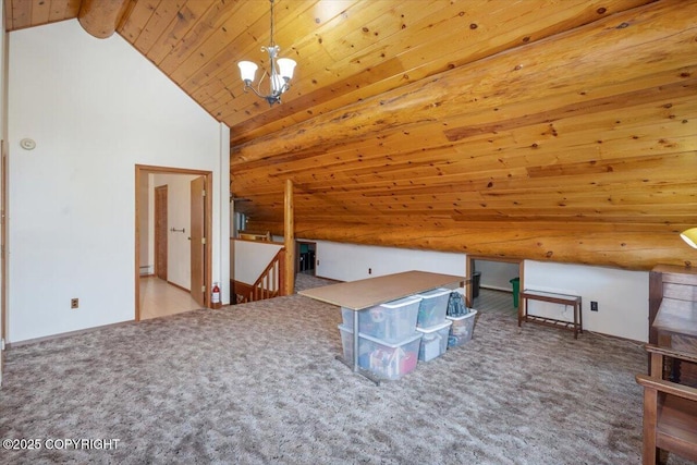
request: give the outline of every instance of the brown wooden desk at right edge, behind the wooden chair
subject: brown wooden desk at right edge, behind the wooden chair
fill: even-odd
[[[649,343],[697,355],[697,269],[659,265],[649,273]],[[670,379],[697,387],[697,364],[667,359]]]

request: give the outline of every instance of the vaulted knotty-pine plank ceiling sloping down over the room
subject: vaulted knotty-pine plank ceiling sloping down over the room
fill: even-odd
[[[236,68],[267,64],[265,1],[5,0],[5,22],[107,10],[231,129],[250,229],[283,233],[292,180],[298,237],[697,264],[677,235],[697,225],[695,0],[276,0],[297,68],[274,107]]]

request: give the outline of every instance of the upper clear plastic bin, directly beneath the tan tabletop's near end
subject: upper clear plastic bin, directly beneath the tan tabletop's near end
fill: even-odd
[[[399,342],[416,331],[420,297],[405,297],[358,311],[358,331],[388,342]],[[353,330],[354,310],[341,307],[343,323]]]

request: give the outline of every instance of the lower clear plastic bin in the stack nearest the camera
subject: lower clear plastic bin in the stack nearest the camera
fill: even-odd
[[[353,331],[339,325],[344,360],[353,360]],[[378,338],[358,333],[358,366],[375,376],[395,380],[411,372],[418,363],[418,350],[421,333],[412,333],[408,338],[390,343]]]

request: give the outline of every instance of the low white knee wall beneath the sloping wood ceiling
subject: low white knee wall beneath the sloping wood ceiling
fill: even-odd
[[[355,281],[408,270],[465,274],[464,254],[316,242],[318,277]],[[648,272],[531,260],[523,267],[526,287],[582,296],[584,329],[648,341]],[[502,287],[512,291],[510,283]],[[598,311],[590,311],[591,301],[598,302]],[[535,315],[573,319],[571,308],[560,305],[530,302],[529,308]]]

